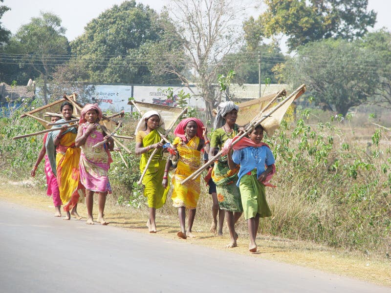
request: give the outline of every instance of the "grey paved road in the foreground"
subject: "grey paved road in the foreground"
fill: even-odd
[[[1,293],[333,292],[390,288],[0,201]]]

